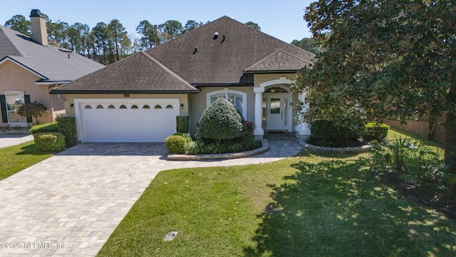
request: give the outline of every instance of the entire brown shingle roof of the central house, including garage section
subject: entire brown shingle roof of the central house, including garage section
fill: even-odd
[[[51,93],[197,92],[194,86],[252,85],[252,75],[244,74],[247,69],[298,71],[313,58],[308,51],[224,16]]]

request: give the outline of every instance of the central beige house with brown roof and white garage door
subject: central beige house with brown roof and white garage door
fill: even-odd
[[[232,102],[254,136],[296,131],[292,104],[304,99],[290,90],[296,71],[314,54],[224,16],[145,52],[59,86],[66,114],[76,116],[82,142],[165,141],[176,116],[190,116],[190,132],[204,109],[222,97]]]

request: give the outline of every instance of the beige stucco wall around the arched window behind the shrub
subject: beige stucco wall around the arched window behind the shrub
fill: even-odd
[[[255,94],[252,86],[204,86],[199,88],[198,94],[190,95],[190,133],[192,135],[197,132],[197,121],[199,121],[202,113],[207,108],[207,94],[225,89],[228,89],[228,91],[241,91],[247,94],[247,117],[244,117],[244,119],[246,121],[254,120]]]

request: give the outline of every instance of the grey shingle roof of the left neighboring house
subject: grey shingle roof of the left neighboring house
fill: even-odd
[[[104,67],[66,49],[41,46],[29,36],[0,26],[0,60],[6,58],[40,74],[45,82],[72,81]]]

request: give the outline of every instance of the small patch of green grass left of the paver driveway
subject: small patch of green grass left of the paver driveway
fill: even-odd
[[[0,148],[0,181],[51,156],[38,151],[33,141]]]

